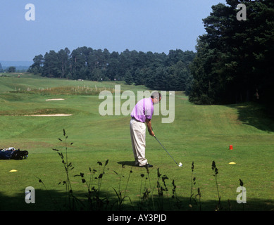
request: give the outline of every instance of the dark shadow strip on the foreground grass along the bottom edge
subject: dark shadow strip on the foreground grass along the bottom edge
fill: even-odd
[[[49,193],[51,196],[49,196]],[[87,200],[87,193],[77,192],[74,193],[77,198],[81,201],[81,204],[77,204],[73,211],[90,211],[89,203]],[[65,206],[66,194],[63,192],[43,189],[35,189],[35,203],[25,203],[25,193],[17,193],[13,197],[4,195],[0,192],[0,210],[1,211],[68,211],[69,209]],[[122,207],[118,208],[117,197],[114,193],[101,192],[101,199],[105,200],[108,198],[109,203],[104,203],[98,210],[93,211],[214,211],[218,200],[201,201],[201,208],[199,204],[189,205],[189,198],[180,197],[174,198],[159,198],[154,195],[154,207],[151,198],[148,200],[138,200],[131,202],[130,200],[125,201]],[[222,211],[273,211],[273,201],[259,200],[259,199],[247,199],[246,204],[238,204],[236,200],[221,200]]]

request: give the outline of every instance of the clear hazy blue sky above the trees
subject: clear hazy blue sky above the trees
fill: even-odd
[[[82,46],[195,51],[202,19],[218,3],[225,0],[0,0],[0,62]],[[25,19],[27,4],[35,21]]]

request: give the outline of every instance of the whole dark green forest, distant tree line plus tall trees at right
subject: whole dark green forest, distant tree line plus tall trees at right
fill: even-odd
[[[238,4],[246,6],[239,20]],[[243,14],[242,14],[243,15]],[[197,52],[125,51],[86,46],[35,56],[29,72],[44,77],[124,80],[151,89],[182,90],[197,104],[260,101],[273,105],[274,1],[227,0],[203,19]]]

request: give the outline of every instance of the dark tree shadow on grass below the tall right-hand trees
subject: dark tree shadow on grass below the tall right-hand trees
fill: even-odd
[[[227,106],[237,109],[237,120],[243,124],[256,127],[262,131],[274,132],[274,117],[271,117],[265,106],[259,103],[241,103]]]

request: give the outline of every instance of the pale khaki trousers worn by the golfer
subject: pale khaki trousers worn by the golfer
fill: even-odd
[[[146,150],[146,124],[135,119],[130,120],[130,136],[132,143],[135,165],[144,166],[147,164],[145,158]]]

